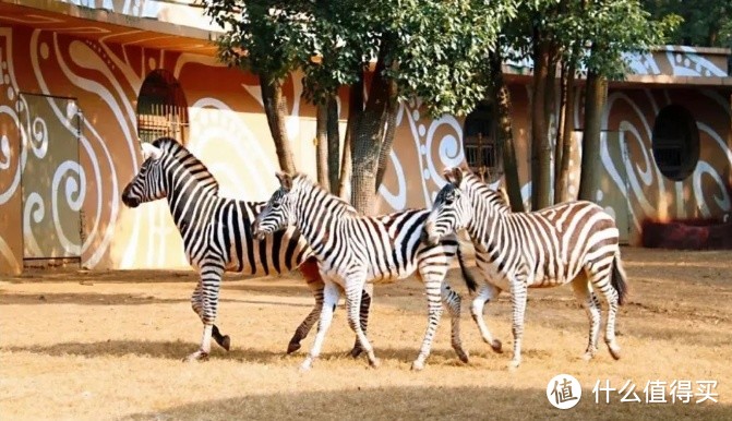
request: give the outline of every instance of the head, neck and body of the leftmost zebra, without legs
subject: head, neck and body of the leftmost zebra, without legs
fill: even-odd
[[[220,197],[216,178],[183,145],[163,137],[153,146],[161,152],[160,157],[143,164],[123,200],[167,197],[193,266],[213,263],[227,270],[269,275],[289,272],[312,254],[295,228],[254,239],[252,222],[266,203]]]

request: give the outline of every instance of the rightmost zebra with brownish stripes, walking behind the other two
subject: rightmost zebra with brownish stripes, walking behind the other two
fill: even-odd
[[[601,315],[595,290],[608,301],[604,340],[611,356],[620,359],[615,313],[626,300],[627,281],[613,217],[586,201],[512,213],[503,197],[470,171],[447,168],[444,176],[448,182],[434,200],[424,224],[423,241],[434,244],[444,236],[467,229],[484,279],[471,305],[472,318],[483,340],[494,351],[502,351],[501,341],[491,335],[482,312],[485,302],[508,290],[514,336],[514,356],[508,366],[518,368],[527,288],[572,282],[590,321],[589,344],[583,358],[590,360],[597,352]]]

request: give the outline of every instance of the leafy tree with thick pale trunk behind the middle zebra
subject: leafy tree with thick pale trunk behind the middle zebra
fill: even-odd
[[[301,69],[304,94],[316,104],[371,72],[365,101],[360,112],[349,112],[347,133],[351,202],[369,214],[388,163],[398,101],[420,97],[432,116],[469,112],[485,93],[485,59],[501,21],[515,9],[509,0],[409,0],[397,8],[388,0],[211,0],[206,11],[227,28],[220,39],[225,61],[253,69],[250,48],[281,40],[287,53],[276,74]],[[272,24],[271,34],[252,31],[256,17]]]

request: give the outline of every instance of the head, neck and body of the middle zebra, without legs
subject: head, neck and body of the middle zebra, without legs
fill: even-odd
[[[394,279],[413,273],[420,255],[429,255],[437,245],[433,257],[443,264],[455,255],[454,236],[435,245],[420,241],[429,214],[428,209],[407,209],[363,216],[307,176],[296,175],[273,194],[259,224],[272,230],[295,221],[325,267],[361,265],[371,279]]]

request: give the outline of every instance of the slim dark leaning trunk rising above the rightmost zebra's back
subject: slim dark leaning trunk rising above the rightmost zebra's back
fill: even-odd
[[[524,200],[521,197],[521,183],[518,179],[518,165],[516,163],[516,148],[514,146],[514,132],[511,120],[511,92],[503,79],[503,60],[500,49],[491,53],[491,74],[493,75],[493,96],[495,97],[495,109],[499,117],[497,141],[503,151],[503,171],[508,193],[508,202],[514,212],[524,212]]]

